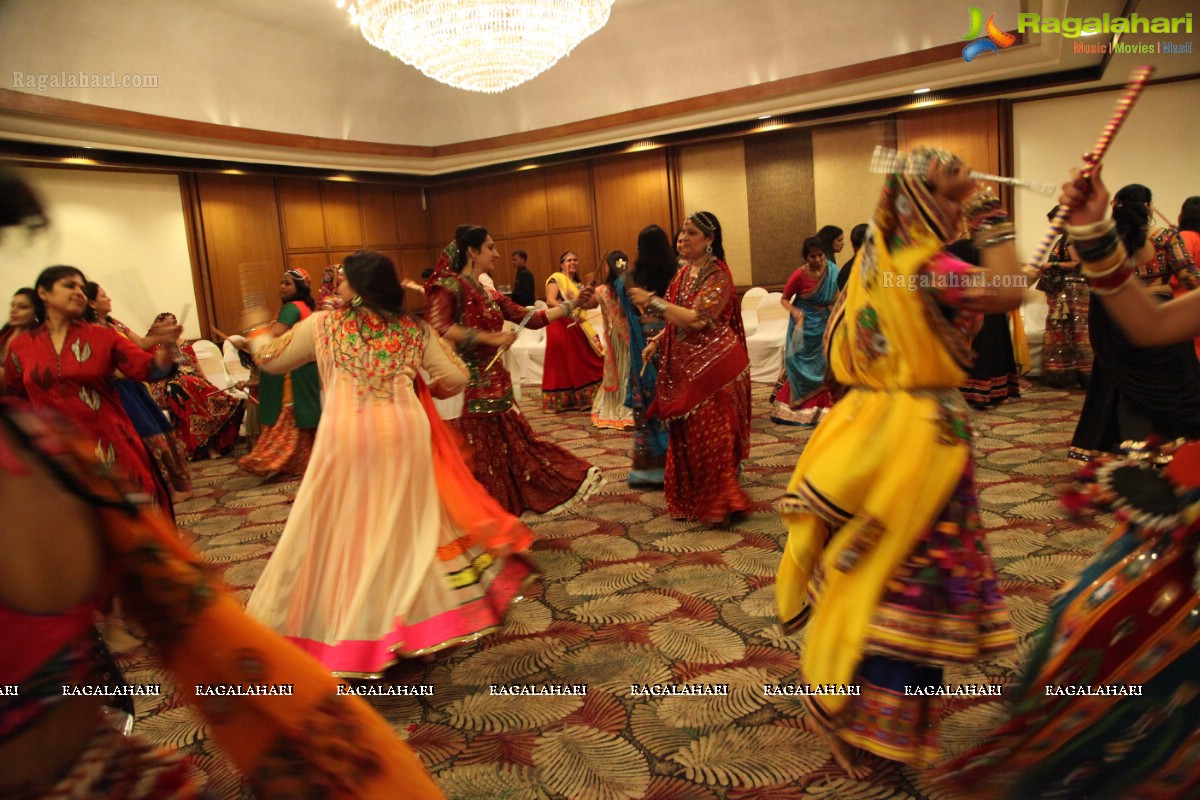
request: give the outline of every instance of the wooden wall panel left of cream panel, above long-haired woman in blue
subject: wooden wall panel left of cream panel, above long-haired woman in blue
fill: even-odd
[[[649,224],[671,224],[666,150],[598,158],[592,179],[600,253],[637,253],[637,234]]]

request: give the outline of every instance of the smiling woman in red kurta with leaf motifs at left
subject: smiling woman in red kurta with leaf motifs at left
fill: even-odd
[[[72,420],[95,440],[96,456],[106,467],[124,473],[169,513],[170,495],[154,477],[150,455],[121,407],[113,373],[138,380],[163,378],[174,368],[170,353],[160,349],[150,355],[113,329],[84,321],[85,283],[73,266],[50,266],[37,276],[42,323],[10,343],[5,392]],[[150,329],[143,347],[174,342],[179,330],[160,323]]]

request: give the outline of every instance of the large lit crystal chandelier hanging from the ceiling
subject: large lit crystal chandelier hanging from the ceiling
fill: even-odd
[[[338,7],[344,0],[338,0]],[[434,80],[502,92],[541,74],[604,28],[613,0],[356,0],[350,19]]]

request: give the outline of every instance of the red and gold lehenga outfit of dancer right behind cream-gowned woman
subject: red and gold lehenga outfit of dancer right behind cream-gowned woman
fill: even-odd
[[[426,284],[426,318],[445,333],[451,325],[499,331],[504,320],[520,323],[530,314],[503,295],[492,295],[443,259]],[[546,312],[535,312],[527,327],[545,326]],[[476,344],[460,355],[470,373],[462,416],[451,427],[473,451],[475,479],[511,513],[545,513],[583,497],[593,483],[593,468],[533,428],[512,403],[512,379],[497,360],[496,348]],[[491,368],[487,366],[491,363]]]

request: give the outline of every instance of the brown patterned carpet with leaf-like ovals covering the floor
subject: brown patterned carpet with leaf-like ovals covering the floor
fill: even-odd
[[[836,800],[956,795],[883,760],[848,778],[811,730],[797,698],[764,697],[763,684],[797,680],[803,632],[774,622],[773,583],[784,529],[773,512],[808,431],[773,425],[755,386],[752,457],[743,479],[756,506],[730,529],[673,522],[661,492],[632,492],[628,434],[596,432],[583,415],[548,416],[527,391],[523,409],[544,437],[604,470],[587,504],[529,516],[542,578],[491,638],[397,666],[390,681],[432,684],[432,697],[368,698],[452,800]],[[1106,521],[1080,523],[1057,503],[1080,392],[1033,386],[1020,401],[976,413],[983,522],[1016,628],[1027,637],[1052,594],[1097,549]],[[271,554],[298,482],[263,483],[232,459],[196,465],[196,497],[180,524],[245,599]],[[1022,652],[1027,643],[1022,642]],[[947,674],[990,682],[1015,674],[1021,655]],[[139,705],[136,730],[193,753],[218,798],[248,796],[145,648],[121,656],[130,682],[162,681]],[[493,697],[490,684],[587,684],[587,697]],[[728,684],[727,697],[632,697],[641,684]],[[1001,711],[959,702],[943,726],[955,753]]]

